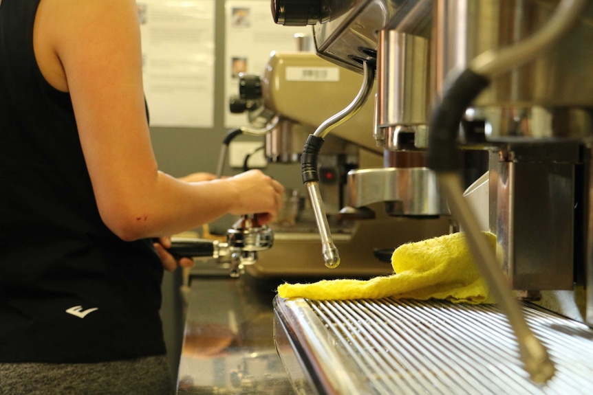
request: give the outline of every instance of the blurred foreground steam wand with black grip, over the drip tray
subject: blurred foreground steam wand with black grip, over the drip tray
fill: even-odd
[[[475,214],[462,197],[455,148],[457,130],[465,110],[496,74],[532,60],[570,30],[582,14],[587,0],[562,0],[552,19],[530,38],[511,47],[485,52],[453,82],[435,108],[429,128],[428,163],[438,177],[451,212],[466,229],[468,246],[476,258],[488,288],[508,318],[519,343],[519,353],[532,381],[545,383],[554,376],[554,365],[546,348],[533,335],[513,298],[495,254],[479,230]]]

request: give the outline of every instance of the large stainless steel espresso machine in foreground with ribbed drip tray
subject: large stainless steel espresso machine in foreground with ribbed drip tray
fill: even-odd
[[[376,79],[367,138],[384,157],[413,152],[426,160],[424,180],[437,180],[438,196],[466,233],[496,300],[460,306],[277,298],[277,349],[295,389],[592,392],[593,3],[279,0],[272,1],[272,17],[311,25],[319,57],[363,74],[367,85]],[[325,134],[313,136],[315,145]],[[487,181],[481,207],[488,229],[463,197],[468,152],[487,157],[480,179]],[[365,204],[376,174],[397,181],[386,174],[400,167],[384,167],[349,172],[351,204]],[[305,175],[303,181],[317,182]],[[314,185],[309,192],[323,218],[323,193]],[[332,267],[341,260],[339,247],[319,222]],[[482,230],[497,236],[495,254]]]

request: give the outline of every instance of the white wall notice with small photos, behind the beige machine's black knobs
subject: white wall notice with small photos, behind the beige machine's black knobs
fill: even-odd
[[[273,51],[297,51],[294,34],[312,36],[311,26],[287,27],[274,23],[270,1],[228,0],[225,9],[226,98],[239,95],[239,73],[260,76]],[[230,113],[227,100],[226,127],[247,123],[247,115]]]

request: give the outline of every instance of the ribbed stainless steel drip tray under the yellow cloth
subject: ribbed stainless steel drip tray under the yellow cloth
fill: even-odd
[[[274,338],[297,394],[593,394],[593,331],[522,306],[556,374],[530,381],[495,305],[274,300]]]

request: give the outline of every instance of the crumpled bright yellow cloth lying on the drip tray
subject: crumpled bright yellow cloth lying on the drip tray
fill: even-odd
[[[484,232],[492,249],[496,236]],[[462,233],[401,245],[391,256],[395,274],[370,280],[321,280],[313,284],[281,284],[280,297],[312,300],[444,299],[473,304],[493,303]]]

